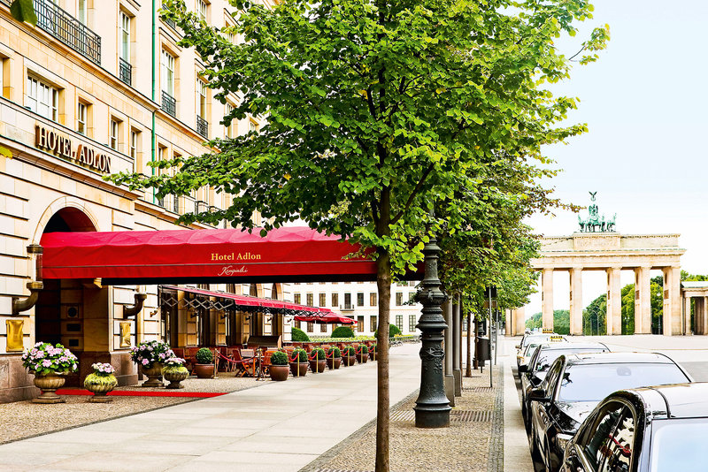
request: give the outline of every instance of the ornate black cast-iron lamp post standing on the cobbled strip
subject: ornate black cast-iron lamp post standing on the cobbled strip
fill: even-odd
[[[425,278],[420,283],[416,301],[423,305],[417,328],[420,339],[420,393],[415,401],[416,428],[446,428],[450,426],[450,400],[443,384],[443,330],[447,328],[440,306],[447,298],[440,290],[437,261],[440,247],[431,239],[425,247]]]

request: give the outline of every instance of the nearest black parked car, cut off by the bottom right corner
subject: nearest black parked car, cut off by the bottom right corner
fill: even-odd
[[[565,472],[697,472],[705,464],[708,383],[614,392],[566,447]]]

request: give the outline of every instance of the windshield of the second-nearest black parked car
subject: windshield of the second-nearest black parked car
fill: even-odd
[[[558,400],[600,401],[621,389],[682,382],[689,382],[689,378],[675,364],[643,362],[570,365],[563,374]]]

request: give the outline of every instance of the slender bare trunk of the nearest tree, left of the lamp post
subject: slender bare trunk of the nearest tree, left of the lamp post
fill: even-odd
[[[376,260],[379,288],[379,353],[376,403],[376,472],[389,472],[389,313],[391,306],[391,260],[388,254]]]

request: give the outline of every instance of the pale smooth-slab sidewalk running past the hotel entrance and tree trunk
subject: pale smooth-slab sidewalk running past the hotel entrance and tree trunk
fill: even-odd
[[[391,349],[392,406],[419,387],[419,349]],[[0,445],[0,470],[295,472],[375,417],[368,362]]]

